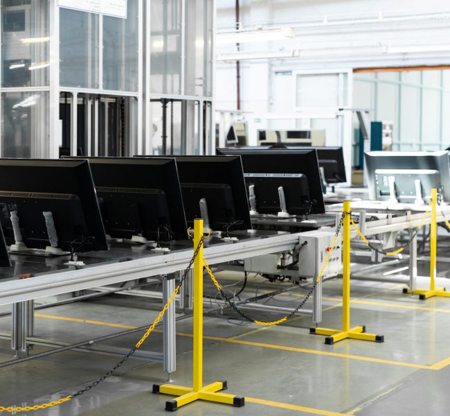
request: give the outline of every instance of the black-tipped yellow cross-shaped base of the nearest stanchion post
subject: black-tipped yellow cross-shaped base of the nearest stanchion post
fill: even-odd
[[[190,404],[196,400],[215,401],[216,403],[231,404],[235,407],[244,406],[244,397],[219,393],[219,391],[226,390],[226,388],[226,381],[216,381],[215,383],[206,385],[199,391],[194,391],[191,387],[183,387],[181,385],[154,384],[153,392],[156,395],[162,393],[163,395],[179,396],[177,399],[165,402],[165,410],[169,412],[174,412],[181,406]]]

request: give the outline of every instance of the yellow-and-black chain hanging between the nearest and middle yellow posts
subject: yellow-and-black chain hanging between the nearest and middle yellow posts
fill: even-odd
[[[278,324],[281,324],[282,322],[286,322],[287,320],[292,318],[296,313],[298,313],[298,311],[300,311],[300,309],[303,308],[303,306],[305,305],[305,303],[307,302],[309,297],[311,297],[312,293],[314,293],[314,290],[316,289],[316,286],[321,281],[321,279],[323,277],[323,273],[325,272],[325,270],[326,270],[326,268],[328,266],[328,263],[330,263],[330,259],[331,259],[334,247],[336,246],[336,243],[338,241],[339,232],[341,232],[341,227],[343,225],[343,220],[344,220],[345,216],[347,216],[347,215],[350,215],[350,212],[343,212],[343,215],[341,216],[341,219],[339,220],[339,224],[338,224],[338,226],[336,228],[336,234],[334,234],[334,239],[333,239],[332,245],[330,246],[330,251],[327,252],[327,257],[325,258],[325,261],[323,262],[321,271],[319,272],[318,276],[314,279],[314,284],[312,285],[312,288],[305,295],[305,297],[303,298],[302,302],[300,302],[300,304],[296,307],[296,309],[294,309],[294,311],[289,313],[289,315],[286,315],[283,318],[280,318],[279,320],[271,321],[271,322],[263,322],[263,321],[251,318],[249,315],[246,315],[246,313],[244,313],[240,309],[238,309],[236,304],[235,304],[235,302],[233,302],[233,300],[231,300],[226,295],[226,293],[224,292],[224,289],[222,288],[222,286],[219,284],[219,282],[215,278],[215,276],[213,274],[213,271],[210,269],[208,263],[206,262],[206,259],[204,258],[203,259],[203,263],[204,263],[204,266],[206,268],[206,272],[208,272],[208,275],[211,278],[211,280],[213,281],[214,286],[217,288],[217,291],[219,291],[220,295],[222,295],[222,298],[225,300],[225,302],[229,306],[231,306],[231,308],[233,308],[233,310],[238,315],[240,315],[242,318],[244,318],[245,320],[248,320],[249,322],[253,322],[255,324],[258,324],[258,325],[261,325],[261,326],[264,326],[264,327],[271,327],[273,325],[278,325]]]

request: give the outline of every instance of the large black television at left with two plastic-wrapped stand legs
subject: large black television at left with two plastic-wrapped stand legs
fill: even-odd
[[[0,222],[8,245],[108,249],[86,160],[0,159]]]

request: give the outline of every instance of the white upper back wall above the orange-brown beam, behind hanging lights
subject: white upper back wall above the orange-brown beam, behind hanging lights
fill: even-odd
[[[216,3],[217,31],[233,31],[235,0]],[[450,64],[450,51],[387,53],[397,46],[448,44],[450,13],[442,14],[450,10],[447,1],[241,0],[241,5],[242,29],[289,26],[296,34],[284,41],[241,44],[241,51],[300,51],[299,58],[241,61],[243,110],[285,111],[285,97],[290,92],[273,89],[279,72]],[[233,44],[217,46],[219,54],[235,50]],[[217,62],[216,81],[217,108],[235,109],[235,62]],[[270,94],[264,100],[262,92],[266,90]]]

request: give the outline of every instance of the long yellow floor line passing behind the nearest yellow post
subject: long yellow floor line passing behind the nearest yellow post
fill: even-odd
[[[112,324],[110,322],[102,322],[102,321],[96,321],[96,320],[89,320],[89,319],[80,319],[80,318],[67,318],[65,316],[56,316],[56,315],[44,315],[41,313],[35,313],[35,316],[37,318],[47,318],[47,319],[55,319],[55,320],[63,320],[63,321],[71,321],[71,322],[80,322],[84,324],[93,324],[93,325],[102,325],[106,327],[114,327],[114,328],[123,328],[123,329],[136,329],[136,326],[132,325],[123,325],[123,324]],[[156,332],[161,333],[161,329],[156,330]],[[177,332],[177,336],[185,336],[188,338],[192,338],[192,333],[184,333],[184,332]],[[323,356],[334,356],[339,358],[350,358],[353,360],[359,360],[359,361],[368,361],[372,363],[383,363],[383,364],[390,364],[390,365],[399,365],[402,367],[413,367],[413,368],[421,368],[424,370],[440,370],[442,367],[446,367],[450,364],[450,357],[447,358],[448,363],[446,360],[440,361],[440,363],[437,363],[435,365],[421,365],[421,364],[413,364],[413,363],[402,363],[399,361],[390,361],[390,360],[384,360],[382,358],[370,358],[370,357],[364,357],[364,356],[354,356],[351,354],[341,354],[337,352],[327,352],[327,351],[319,351],[316,349],[306,349],[306,348],[298,348],[298,347],[285,347],[284,345],[274,345],[274,344],[266,344],[266,343],[255,343],[253,341],[246,341],[246,340],[240,340],[236,338],[223,338],[219,336],[207,336],[205,335],[203,337],[206,340],[214,340],[214,341],[221,341],[224,343],[234,343],[234,344],[240,344],[240,345],[249,345],[252,347],[262,347],[262,348],[270,348],[270,349],[281,349],[283,351],[291,351],[291,352],[301,352],[305,354],[316,354],[316,355],[323,355]]]

